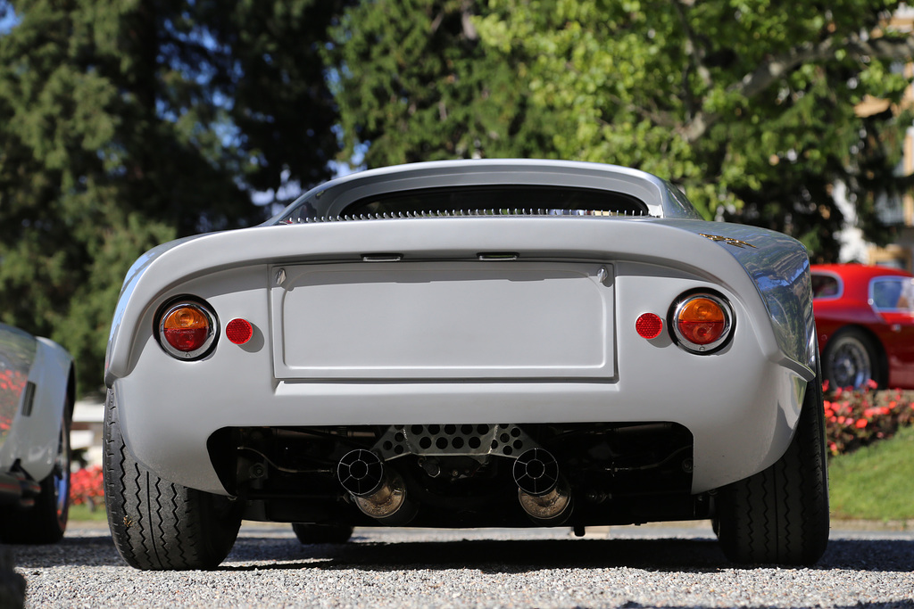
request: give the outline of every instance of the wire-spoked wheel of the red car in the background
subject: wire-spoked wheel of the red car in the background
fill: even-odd
[[[828,341],[823,372],[833,387],[856,389],[870,380],[884,384],[877,348],[866,333],[856,328],[840,331]]]

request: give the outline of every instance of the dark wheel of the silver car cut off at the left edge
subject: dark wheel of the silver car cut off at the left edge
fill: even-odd
[[[0,518],[5,543],[56,543],[67,530],[69,516],[69,404],[64,407],[58,432],[54,467],[41,480],[41,492],[27,509],[10,509]]]

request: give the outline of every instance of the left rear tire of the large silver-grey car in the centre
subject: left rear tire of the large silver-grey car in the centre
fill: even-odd
[[[226,497],[169,482],[124,446],[113,394],[104,428],[105,507],[117,551],[137,569],[213,569],[238,537],[240,507]]]

